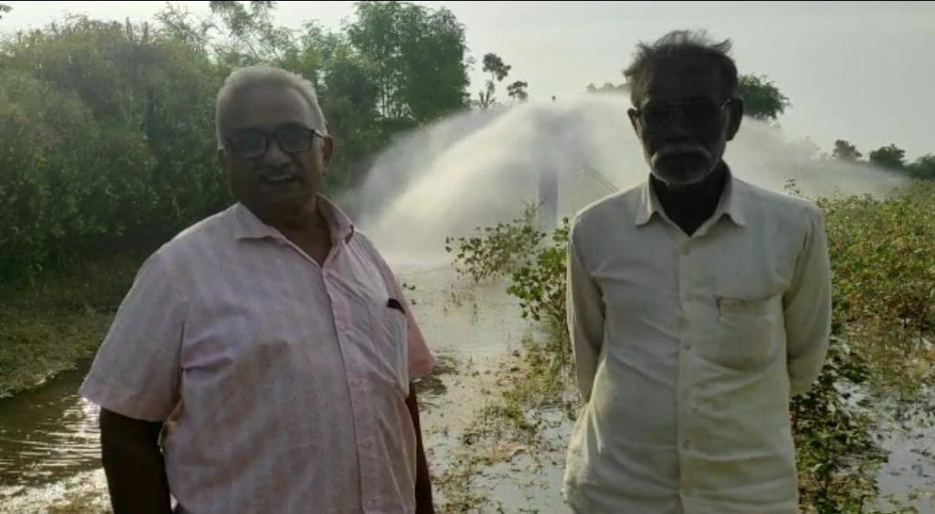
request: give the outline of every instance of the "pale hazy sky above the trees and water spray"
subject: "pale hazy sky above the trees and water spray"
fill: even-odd
[[[11,2],[0,31],[39,26],[65,12],[142,21],[163,2]],[[636,43],[673,29],[730,37],[741,73],[767,74],[792,101],[780,118],[792,137],[829,150],[837,138],[869,150],[896,143],[910,157],[935,153],[935,2],[419,2],[450,8],[467,30],[471,55],[489,51],[529,82],[533,99],[582,93],[623,81]],[[198,15],[208,2],[180,2]],[[338,28],[351,2],[283,2],[277,20],[316,19]],[[471,74],[471,92],[482,72]],[[501,96],[504,94],[501,93]],[[621,116],[624,114],[621,113]]]

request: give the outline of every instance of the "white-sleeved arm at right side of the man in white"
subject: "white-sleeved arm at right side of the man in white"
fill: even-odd
[[[786,365],[792,396],[805,393],[821,372],[831,335],[831,265],[821,212],[814,209],[796,272],[783,298]]]

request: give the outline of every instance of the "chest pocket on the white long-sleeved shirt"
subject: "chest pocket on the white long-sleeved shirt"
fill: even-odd
[[[750,299],[715,296],[717,332],[709,349],[712,359],[733,369],[766,364],[777,344],[782,295]]]

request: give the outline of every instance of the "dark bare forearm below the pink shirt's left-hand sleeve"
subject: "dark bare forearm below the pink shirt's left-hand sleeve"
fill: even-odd
[[[159,432],[163,423],[101,409],[101,457],[114,514],[170,514]]]

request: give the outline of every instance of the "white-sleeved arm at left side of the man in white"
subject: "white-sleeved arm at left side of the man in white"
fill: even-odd
[[[568,236],[568,334],[575,358],[578,389],[587,402],[591,398],[597,357],[604,339],[604,307],[597,284],[588,275],[579,256],[575,230]]]

